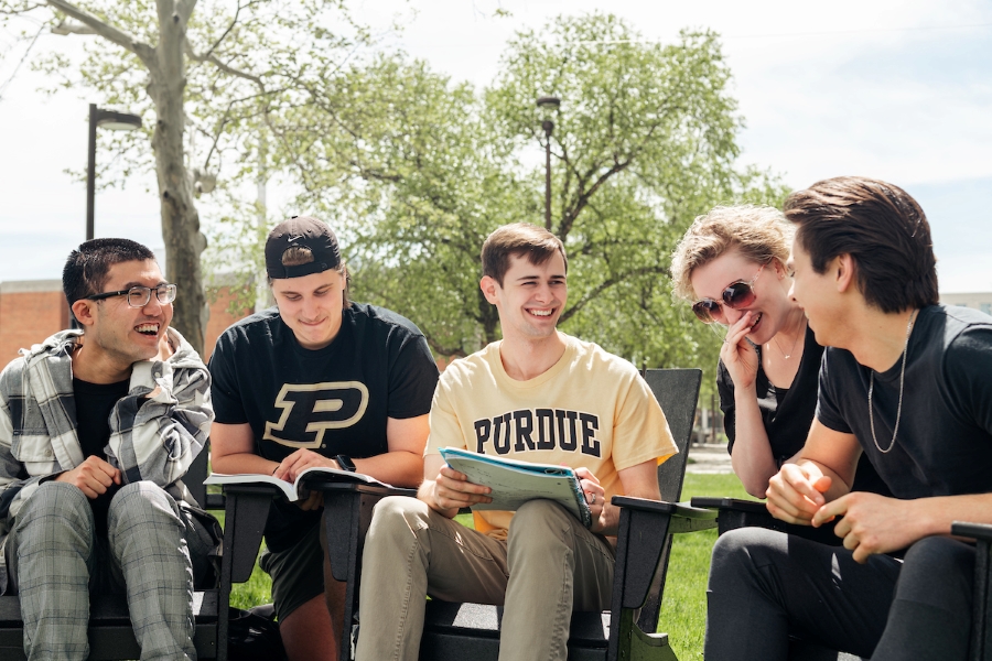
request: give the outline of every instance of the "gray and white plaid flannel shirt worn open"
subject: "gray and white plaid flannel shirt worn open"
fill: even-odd
[[[209,436],[211,375],[182,335],[166,332],[179,348],[168,360],[134,364],[128,394],[110,413],[105,451],[123,484],[149,480],[195,507],[181,478]],[[80,339],[78,330],[56,333],[0,373],[0,550],[39,484],[86,458],[73,399],[72,350]],[[6,587],[0,552],[0,593]]]

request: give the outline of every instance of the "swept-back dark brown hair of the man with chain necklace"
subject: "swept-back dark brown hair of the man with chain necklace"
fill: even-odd
[[[854,260],[858,289],[885,313],[938,301],[937,258],[927,216],[885,182],[839,176],[789,195],[783,207],[817,273],[841,254]]]

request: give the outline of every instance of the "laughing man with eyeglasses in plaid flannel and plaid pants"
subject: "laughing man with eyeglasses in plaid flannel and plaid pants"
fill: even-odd
[[[88,658],[90,592],[127,594],[142,659],[195,659],[219,528],[182,477],[214,419],[209,373],[144,246],[86,241],[62,282],[82,330],[0,373],[0,588],[20,595],[29,659]]]

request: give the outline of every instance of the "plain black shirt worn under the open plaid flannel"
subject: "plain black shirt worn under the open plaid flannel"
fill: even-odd
[[[117,383],[90,383],[73,378],[73,401],[76,405],[76,433],[83,456],[96,455],[107,460],[107,442],[110,440],[110,412],[115,404],[128,394],[130,380]],[[105,494],[89,501],[98,534],[107,534],[107,512],[110,499],[118,487],[111,485]]]

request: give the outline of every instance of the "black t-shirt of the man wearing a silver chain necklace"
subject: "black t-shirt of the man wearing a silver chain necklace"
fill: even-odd
[[[992,317],[967,307],[919,311],[906,358],[903,412],[892,451],[872,440],[867,391],[872,370],[847,350],[828,348],[817,418],[853,433],[897,498],[992,491]],[[902,356],[875,373],[875,436],[892,442]]]

